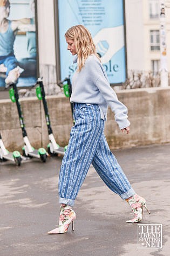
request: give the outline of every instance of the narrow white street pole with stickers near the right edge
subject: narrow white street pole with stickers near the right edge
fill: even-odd
[[[161,87],[168,87],[165,0],[159,0],[159,4],[160,4],[160,76],[161,76],[160,80],[161,80]]]

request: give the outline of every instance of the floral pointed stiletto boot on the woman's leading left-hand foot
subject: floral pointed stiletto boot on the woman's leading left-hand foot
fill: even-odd
[[[74,231],[73,220],[76,219],[76,213],[73,211],[72,207],[69,205],[61,205],[60,215],[59,215],[59,225],[57,228],[52,229],[48,234],[63,234],[66,233],[70,224],[72,224],[72,231]]]

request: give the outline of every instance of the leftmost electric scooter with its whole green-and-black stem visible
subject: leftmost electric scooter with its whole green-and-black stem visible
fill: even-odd
[[[24,124],[24,118],[23,118],[23,114],[22,114],[22,110],[21,110],[21,104],[19,103],[19,96],[18,96],[18,90],[17,90],[16,83],[10,84],[9,87],[12,87],[9,90],[9,95],[10,95],[11,101],[16,102],[18,115],[19,115],[19,122],[20,122],[20,126],[22,129],[22,135],[23,135],[23,140],[24,140],[24,147],[22,148],[23,156],[26,156],[26,157],[28,156],[30,158],[36,157],[36,158],[39,158],[40,160],[42,160],[43,162],[46,162],[46,158],[47,158],[46,150],[44,148],[39,148],[39,149],[33,148],[28,139],[28,136],[27,136],[27,133],[25,130],[25,124]]]

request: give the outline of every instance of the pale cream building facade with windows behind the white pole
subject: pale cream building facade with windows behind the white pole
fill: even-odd
[[[165,1],[167,68],[170,70],[170,1]],[[127,60],[130,70],[160,70],[160,1],[126,0]]]

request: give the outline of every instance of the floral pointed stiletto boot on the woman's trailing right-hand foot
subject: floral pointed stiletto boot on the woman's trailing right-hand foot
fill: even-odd
[[[134,213],[134,218],[132,220],[126,220],[127,223],[137,223],[143,219],[144,207],[146,211],[150,214],[148,208],[146,207],[146,200],[141,196],[135,194],[130,199],[126,199],[130,205],[132,212]]]

